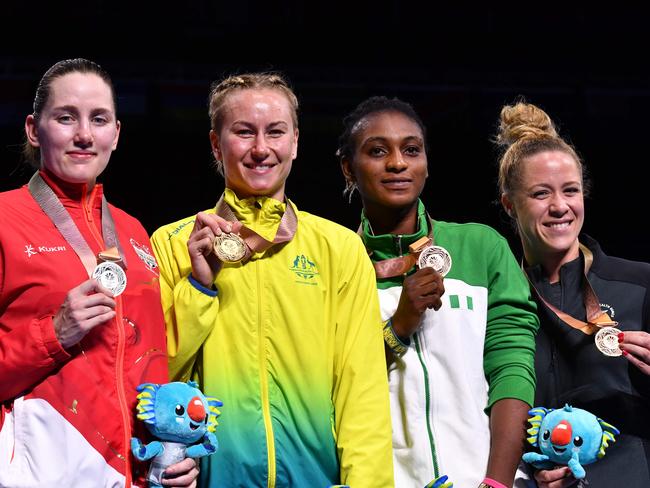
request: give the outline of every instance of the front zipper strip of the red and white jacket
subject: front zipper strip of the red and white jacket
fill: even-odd
[[[90,229],[91,234],[95,237],[97,244],[100,249],[104,248],[104,239],[102,238],[101,232],[97,229],[95,225],[95,219],[93,218],[93,206],[88,206],[88,202],[93,202],[96,195],[95,186],[90,193],[90,198],[86,198],[87,190],[84,188],[81,196],[81,204],[86,215],[86,223]],[[124,352],[125,352],[125,337],[124,329],[122,324],[122,297],[118,296],[114,298],[115,300],[115,326],[117,328],[117,357],[115,358],[115,377],[117,383],[117,398],[118,403],[120,404],[120,414],[122,415],[122,425],[124,426],[124,438],[122,445],[125,449],[127,446],[130,446],[131,438],[131,423],[129,421],[129,408],[126,401],[126,395],[124,393]],[[126,466],[125,472],[125,488],[131,486],[131,463],[129,462],[128,452],[123,452],[118,454],[118,457],[122,458]]]

